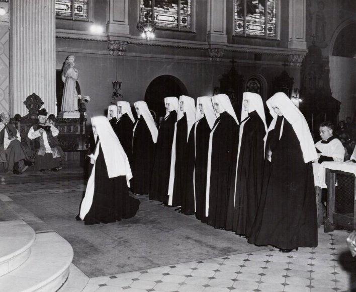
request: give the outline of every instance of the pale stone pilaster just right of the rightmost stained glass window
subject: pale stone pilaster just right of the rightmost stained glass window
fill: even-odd
[[[305,39],[306,0],[289,1],[289,42],[290,49],[306,49]]]

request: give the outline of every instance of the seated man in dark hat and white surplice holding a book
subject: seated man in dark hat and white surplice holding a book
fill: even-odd
[[[46,109],[38,111],[38,123],[33,124],[27,134],[27,141],[35,157],[34,170],[58,171],[60,161],[65,155],[56,136],[58,129],[51,123],[46,123]]]

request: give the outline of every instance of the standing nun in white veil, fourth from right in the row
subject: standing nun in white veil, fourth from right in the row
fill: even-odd
[[[188,141],[187,150],[187,201],[194,203],[195,214],[199,220],[206,223],[207,217],[204,216],[205,209],[205,193],[207,183],[207,164],[208,164],[208,148],[209,134],[216,120],[211,97],[202,96],[197,99],[197,110],[194,124],[194,144]],[[191,131],[193,132],[193,130]],[[191,134],[192,135],[192,134]],[[191,138],[190,138],[191,139]],[[194,201],[193,201],[194,199]],[[193,210],[193,207],[191,207]],[[183,208],[182,208],[183,210]]]

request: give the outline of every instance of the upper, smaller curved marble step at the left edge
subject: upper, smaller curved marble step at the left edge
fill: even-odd
[[[23,220],[0,222],[0,276],[26,262],[35,238],[35,231]]]

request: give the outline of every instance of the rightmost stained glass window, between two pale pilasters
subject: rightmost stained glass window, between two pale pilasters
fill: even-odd
[[[235,34],[276,38],[278,0],[235,0]]]

